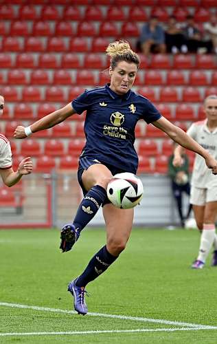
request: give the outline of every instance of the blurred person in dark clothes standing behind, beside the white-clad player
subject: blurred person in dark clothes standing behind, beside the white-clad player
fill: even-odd
[[[185,226],[185,219],[190,216],[192,210],[192,204],[189,204],[187,215],[183,215],[183,193],[187,193],[190,196],[190,182],[189,182],[189,160],[186,154],[181,156],[183,164],[179,167],[175,167],[172,164],[174,154],[170,155],[168,159],[168,175],[171,178],[172,193],[176,200],[176,206],[179,213],[181,226]]]

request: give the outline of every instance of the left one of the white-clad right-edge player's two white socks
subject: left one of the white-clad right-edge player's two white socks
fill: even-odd
[[[214,243],[214,238],[216,235],[216,227],[215,224],[203,224],[203,232],[201,234],[201,245],[198,254],[198,260],[203,261],[207,259],[207,255],[209,255],[209,250]]]

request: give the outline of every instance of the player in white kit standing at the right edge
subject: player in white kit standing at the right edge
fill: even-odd
[[[206,120],[191,125],[187,135],[207,149],[217,159],[217,96],[208,96],[204,101]],[[173,164],[181,166],[183,147],[176,147]],[[214,244],[212,266],[217,266],[217,178],[206,168],[203,158],[196,155],[192,174],[190,203],[193,204],[194,217],[198,229],[202,231],[201,244],[192,268],[201,269],[205,264],[209,250]]]

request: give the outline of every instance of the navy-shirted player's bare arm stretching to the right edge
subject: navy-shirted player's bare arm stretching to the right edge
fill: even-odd
[[[152,125],[155,125],[155,127],[167,133],[168,136],[170,136],[170,138],[174,142],[180,144],[181,147],[189,149],[190,151],[194,151],[195,153],[203,156],[207,167],[209,169],[212,169],[212,173],[217,174],[217,161],[212,157],[212,155],[209,154],[206,149],[204,149],[200,144],[193,140],[193,138],[190,138],[190,136],[188,136],[185,131],[183,131],[179,127],[176,127],[176,125],[173,125],[164,117],[161,117],[159,120],[152,122]],[[178,157],[180,153],[181,149],[178,149],[178,151],[176,151],[176,157]]]

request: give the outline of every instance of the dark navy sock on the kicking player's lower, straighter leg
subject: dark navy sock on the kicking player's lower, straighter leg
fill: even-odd
[[[117,257],[111,255],[106,246],[103,246],[89,261],[82,275],[78,277],[76,286],[85,287],[87,283],[93,281],[93,279],[96,279],[102,272],[106,271],[116,259]]]

